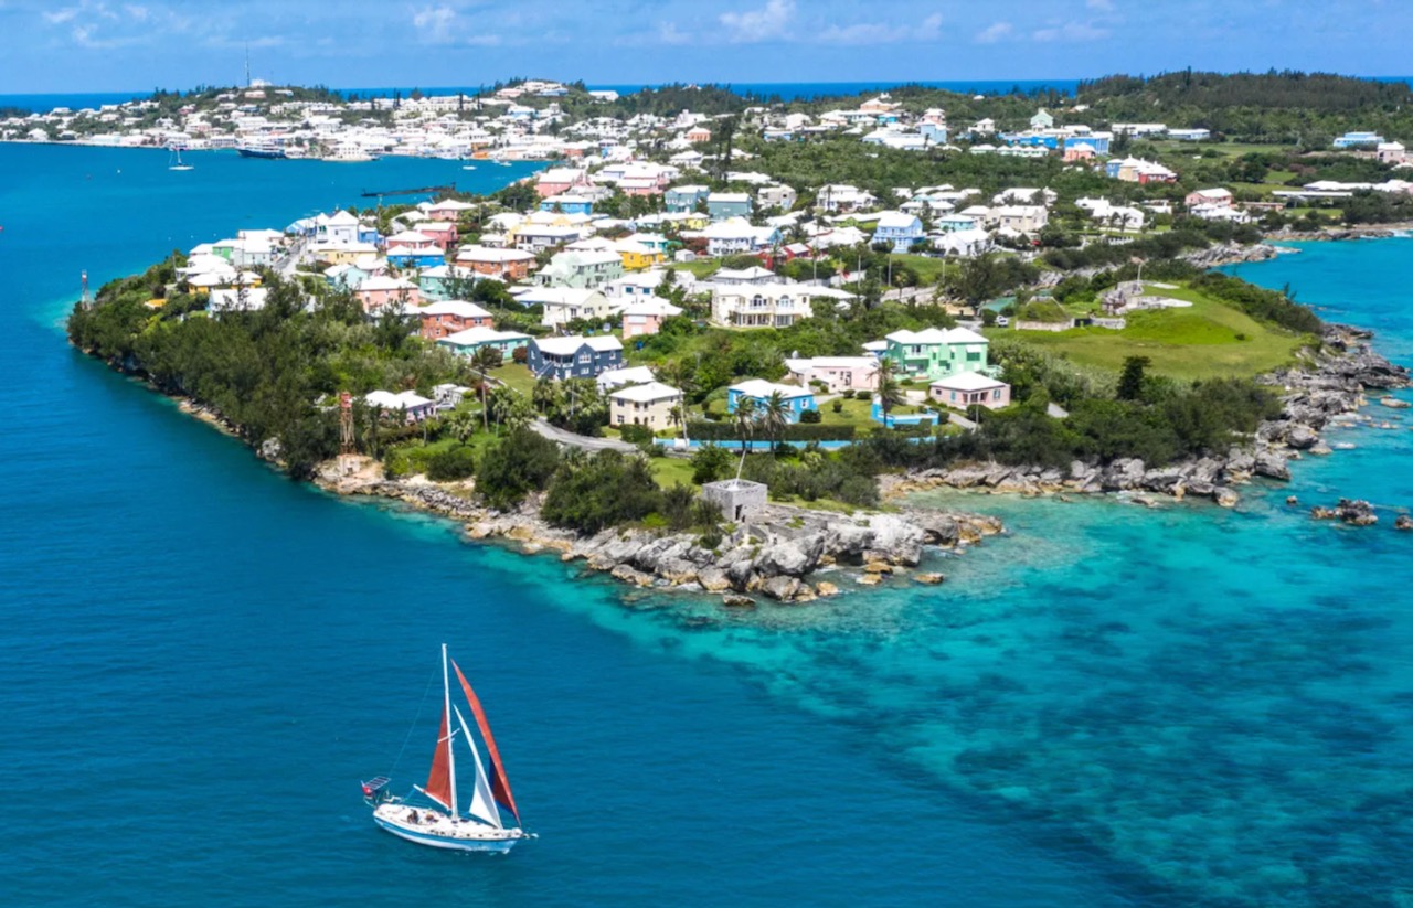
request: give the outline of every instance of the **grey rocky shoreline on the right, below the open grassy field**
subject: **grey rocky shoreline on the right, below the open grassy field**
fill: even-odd
[[[1347,325],[1327,325],[1321,350],[1306,364],[1283,369],[1265,377],[1280,388],[1282,412],[1263,422],[1243,445],[1234,445],[1225,456],[1186,460],[1166,467],[1147,467],[1137,459],[1118,459],[1108,465],[1075,460],[1068,470],[1040,466],[1005,466],[971,463],[951,469],[920,470],[885,476],[882,491],[900,498],[933,489],[969,489],[978,491],[1043,494],[1152,493],[1211,498],[1222,507],[1235,507],[1241,494],[1234,486],[1253,477],[1290,479],[1290,460],[1304,453],[1328,455],[1321,432],[1334,425],[1373,419],[1361,412],[1368,405],[1369,390],[1406,388],[1409,373],[1383,359],[1369,345],[1371,332]],[[1385,407],[1402,410],[1397,398]],[[1396,417],[1395,417],[1396,419]]]

